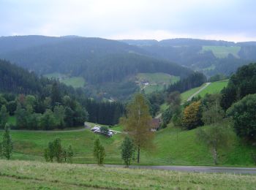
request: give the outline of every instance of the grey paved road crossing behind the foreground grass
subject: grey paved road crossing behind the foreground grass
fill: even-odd
[[[105,167],[124,167],[123,165],[105,164]],[[256,167],[206,167],[206,166],[130,166],[132,169],[172,170],[180,172],[222,172],[256,175]]]

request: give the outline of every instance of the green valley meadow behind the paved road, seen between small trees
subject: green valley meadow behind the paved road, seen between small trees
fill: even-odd
[[[208,127],[208,126],[204,126]],[[121,131],[121,126],[113,130]],[[156,132],[154,147],[149,151],[142,151],[141,163],[144,165],[214,165],[211,151],[205,145],[196,142],[195,132],[181,131],[169,125],[166,129]],[[0,132],[0,137],[2,131]],[[74,149],[74,163],[95,163],[92,155],[93,142],[99,137],[106,150],[106,164],[123,164],[121,160],[120,145],[124,134],[116,134],[111,138],[94,134],[88,129],[80,132],[11,132],[14,142],[12,159],[43,161],[43,149],[55,137],[60,137],[64,147],[69,144]],[[228,151],[220,151],[220,166],[249,166],[253,160],[253,148],[244,145],[236,139]],[[136,164],[135,162],[132,164]]]

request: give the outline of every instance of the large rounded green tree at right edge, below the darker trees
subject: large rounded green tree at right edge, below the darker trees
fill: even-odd
[[[256,142],[256,94],[249,94],[233,104],[227,115],[233,118],[236,134]]]

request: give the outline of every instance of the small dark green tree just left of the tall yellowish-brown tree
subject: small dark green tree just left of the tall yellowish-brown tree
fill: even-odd
[[[132,159],[135,156],[135,145],[129,137],[125,137],[121,144],[121,158],[124,160],[124,164],[129,167]]]

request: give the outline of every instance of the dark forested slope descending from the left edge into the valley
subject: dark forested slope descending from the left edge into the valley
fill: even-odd
[[[18,129],[63,129],[95,118],[113,125],[124,113],[121,103],[97,102],[89,99],[84,89],[37,77],[8,61],[0,60],[0,73],[1,112],[14,115]],[[5,121],[2,128],[6,118],[1,118]]]

